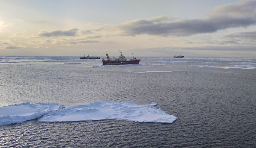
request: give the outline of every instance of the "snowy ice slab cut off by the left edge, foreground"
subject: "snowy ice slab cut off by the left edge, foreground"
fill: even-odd
[[[0,107],[0,125],[20,123],[36,119],[52,110],[58,110],[61,105],[58,103],[37,103],[14,104]]]

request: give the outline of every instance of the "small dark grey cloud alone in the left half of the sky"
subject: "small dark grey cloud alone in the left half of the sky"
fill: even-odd
[[[55,30],[55,31],[51,31],[51,32],[47,32],[47,31],[40,31],[38,33],[39,36],[41,37],[59,37],[59,36],[76,36],[78,29],[74,28],[74,29],[70,29],[67,31],[62,31],[62,30]]]

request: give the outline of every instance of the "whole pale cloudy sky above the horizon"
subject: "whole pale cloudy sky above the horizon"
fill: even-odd
[[[256,0],[0,0],[0,56],[256,57]]]

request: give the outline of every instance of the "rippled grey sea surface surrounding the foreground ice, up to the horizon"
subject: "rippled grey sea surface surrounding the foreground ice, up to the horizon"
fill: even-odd
[[[169,123],[123,120],[0,126],[0,148],[255,148],[256,58],[137,57],[103,66],[79,57],[0,56],[0,106],[66,107],[131,102],[174,115]]]

